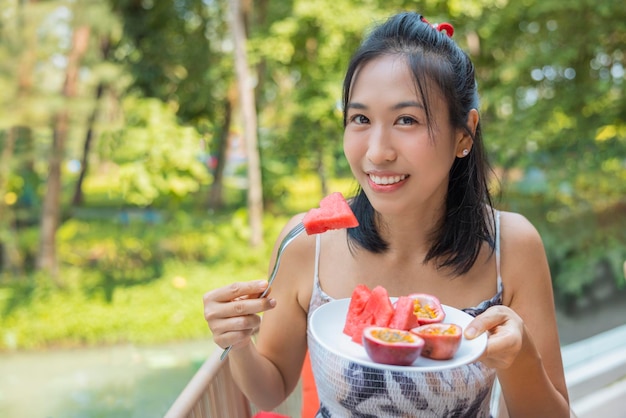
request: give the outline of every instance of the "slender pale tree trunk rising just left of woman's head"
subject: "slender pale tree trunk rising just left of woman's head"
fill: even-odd
[[[230,23],[235,44],[237,85],[239,88],[248,161],[250,245],[256,247],[263,242],[263,186],[261,183],[261,161],[257,140],[257,114],[254,103],[254,89],[248,69],[248,56],[246,54],[245,16],[241,13],[240,0],[232,0],[229,4]]]

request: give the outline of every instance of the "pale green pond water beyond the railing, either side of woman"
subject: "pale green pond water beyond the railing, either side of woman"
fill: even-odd
[[[561,342],[569,344],[626,323],[626,299],[575,316],[558,312],[558,321]],[[205,340],[3,353],[0,417],[162,417],[215,348]]]

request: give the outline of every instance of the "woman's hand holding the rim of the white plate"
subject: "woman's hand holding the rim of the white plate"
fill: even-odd
[[[510,367],[520,350],[524,332],[524,321],[511,308],[492,306],[478,315],[466,327],[465,338],[472,339],[487,332],[487,348],[479,358],[488,367],[506,369]]]

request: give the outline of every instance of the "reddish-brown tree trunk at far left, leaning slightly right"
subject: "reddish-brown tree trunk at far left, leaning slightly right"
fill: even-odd
[[[87,49],[89,27],[82,26],[74,31],[72,50],[68,57],[65,84],[62,95],[69,100],[76,95],[79,61]],[[65,141],[69,128],[69,109],[61,109],[53,117],[52,149],[48,166],[48,181],[41,211],[41,228],[37,269],[56,277],[56,232],[61,218],[61,164],[65,154]]]

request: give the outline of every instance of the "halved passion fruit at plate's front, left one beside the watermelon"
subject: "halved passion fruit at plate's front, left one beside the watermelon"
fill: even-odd
[[[367,327],[363,330],[363,346],[376,363],[409,366],[420,356],[424,340],[409,331]]]

